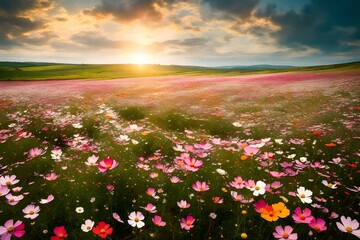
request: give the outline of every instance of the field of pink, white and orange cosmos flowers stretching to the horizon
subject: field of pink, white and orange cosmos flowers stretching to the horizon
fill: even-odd
[[[114,78],[0,81],[0,226],[22,221],[22,239],[360,236],[340,225],[359,219],[358,63],[145,78],[81,66],[0,68],[2,80]]]

